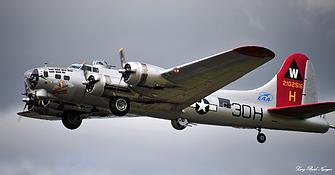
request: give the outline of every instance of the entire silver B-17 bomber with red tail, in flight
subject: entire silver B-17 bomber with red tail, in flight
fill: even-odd
[[[68,68],[39,67],[24,73],[25,107],[18,115],[62,120],[77,129],[83,119],[149,116],[170,120],[183,130],[195,124],[325,133],[325,114],[335,102],[318,102],[314,70],[303,54],[288,56],[264,86],[247,91],[221,90],[275,57],[259,46],[244,46],[164,69],[127,62],[121,69],[105,61]]]

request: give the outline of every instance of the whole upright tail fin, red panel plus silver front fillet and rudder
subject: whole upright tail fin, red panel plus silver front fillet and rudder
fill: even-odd
[[[268,107],[290,107],[318,102],[312,62],[301,53],[289,55],[272,80],[247,92],[250,95],[244,97],[250,100],[256,98]]]

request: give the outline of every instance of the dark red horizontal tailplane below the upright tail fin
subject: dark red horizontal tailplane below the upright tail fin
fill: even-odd
[[[305,119],[335,111],[335,102],[321,102],[287,107],[275,107],[269,108],[268,111],[270,113],[280,114],[287,117]]]

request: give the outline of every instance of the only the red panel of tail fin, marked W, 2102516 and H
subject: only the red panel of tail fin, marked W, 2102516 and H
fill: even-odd
[[[309,59],[300,53],[286,58],[277,74],[277,107],[302,104],[307,60]]]

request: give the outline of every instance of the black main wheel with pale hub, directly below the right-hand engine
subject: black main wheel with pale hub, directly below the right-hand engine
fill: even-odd
[[[109,103],[109,109],[116,116],[124,116],[129,112],[129,99],[125,97],[113,97]]]

